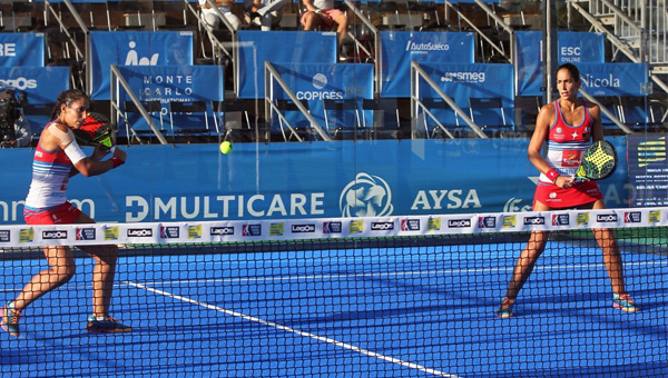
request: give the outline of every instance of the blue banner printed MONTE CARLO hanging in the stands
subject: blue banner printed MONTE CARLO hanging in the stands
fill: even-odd
[[[151,113],[156,125],[160,123],[160,118],[168,117],[170,101],[210,102],[225,99],[222,66],[124,66],[118,69],[141,101],[163,103],[160,113]],[[121,89],[121,105],[126,100],[129,100],[129,97]],[[149,129],[140,115],[135,113],[128,118],[135,130]],[[188,127],[200,129],[203,123],[202,115],[174,115],[173,119],[181,129]],[[210,121],[214,122],[213,119]],[[161,123],[164,122],[165,120]],[[119,127],[119,132],[125,135],[122,125]]]

